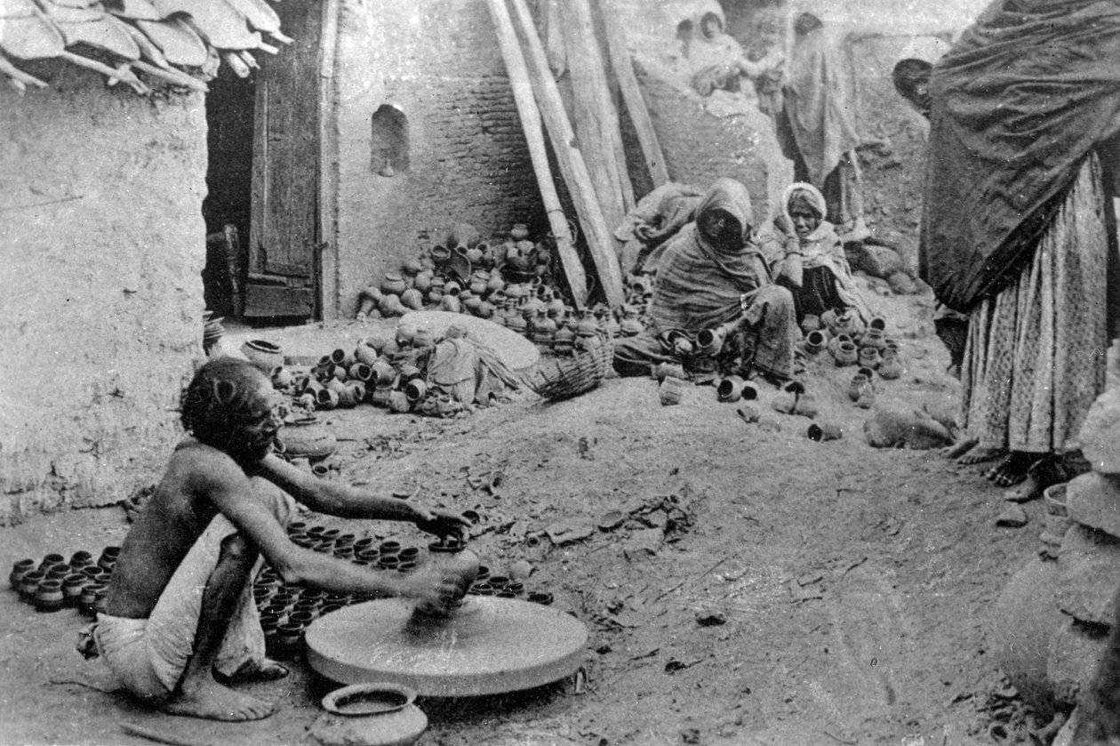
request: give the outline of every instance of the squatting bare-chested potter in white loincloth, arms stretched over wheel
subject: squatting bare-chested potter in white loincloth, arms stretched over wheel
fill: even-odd
[[[376,572],[292,543],[296,500],[354,519],[411,521],[461,534],[458,515],[320,481],[270,453],[281,421],[276,393],[244,361],[198,370],[181,400],[193,437],[175,449],[150,502],[121,548],[106,613],[93,631],[103,660],[134,696],[175,715],[217,720],[269,716],[273,705],[220,683],[288,673],[264,658],[251,595],[263,556],[284,582],[336,593],[439,603],[463,593],[430,567]]]

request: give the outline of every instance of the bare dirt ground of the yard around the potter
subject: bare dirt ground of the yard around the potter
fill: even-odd
[[[908,369],[881,382],[879,401],[955,400],[931,298],[868,295]],[[431,725],[421,743],[993,743],[986,702],[1001,684],[986,615],[1036,552],[1040,506],[1027,505],[1025,529],[997,529],[1002,501],[983,467],[867,446],[868,412],[844,395],[851,374],[828,362],[808,376],[818,421],[843,426],[828,442],[805,437],[803,417],[777,416],[776,432],[747,425],[710,386],[662,407],[647,379],[446,421],[333,413],[342,451],[329,478],[476,509],[484,521],[472,547],[484,562],[528,560],[526,585],[551,590],[590,632],[586,682],[422,701]],[[765,388],[765,409],[775,393]],[[476,487],[496,470],[496,494]],[[615,510],[629,517],[613,531],[562,545],[541,538]],[[662,526],[663,538],[648,531]],[[420,539],[391,524],[353,528]],[[125,531],[119,507],[38,516],[2,530],[0,561],[97,550]],[[325,687],[304,664],[251,688],[280,703],[264,721],[164,716],[102,691],[101,664],[74,652],[84,625],[75,612],[37,614],[10,590],[0,612],[3,744],[148,743],[125,735],[125,722],[193,744],[312,743]],[[709,612],[726,623],[701,625]]]

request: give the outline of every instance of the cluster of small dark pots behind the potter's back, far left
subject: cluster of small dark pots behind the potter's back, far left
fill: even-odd
[[[8,582],[20,600],[38,612],[76,608],[93,618],[105,610],[105,594],[120,551],[120,547],[105,547],[97,559],[84,550],[74,552],[69,560],[57,552],[38,562],[21,559],[12,565]]]

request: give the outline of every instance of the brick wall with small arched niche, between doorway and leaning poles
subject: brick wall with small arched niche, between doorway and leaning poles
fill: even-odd
[[[361,288],[466,221],[543,221],[529,150],[483,0],[345,0],[336,66],[340,313]],[[370,118],[408,115],[409,172],[371,168]]]

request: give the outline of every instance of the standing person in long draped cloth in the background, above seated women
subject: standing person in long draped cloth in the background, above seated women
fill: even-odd
[[[794,22],[786,60],[782,111],[775,118],[778,144],[793,161],[793,177],[824,194],[825,220],[844,241],[868,236],[864,180],[856,158],[855,84],[849,66],[832,50],[824,25],[812,13]]]

